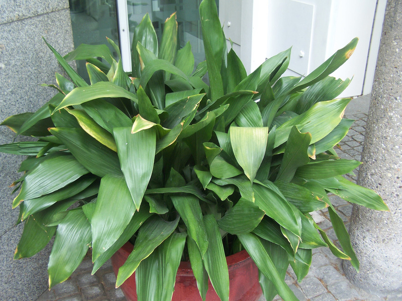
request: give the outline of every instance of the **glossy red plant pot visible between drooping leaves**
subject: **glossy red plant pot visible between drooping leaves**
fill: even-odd
[[[127,242],[112,256],[112,265],[115,274],[123,265],[133,250],[133,245]],[[230,301],[256,301],[262,291],[258,282],[258,268],[248,253],[243,250],[226,257],[229,268]],[[124,295],[128,301],[137,301],[135,273],[122,285]],[[176,284],[172,301],[202,301],[199,295],[197,283],[191,270],[190,262],[180,262],[176,275]],[[220,301],[211,282],[207,292],[207,301]]]

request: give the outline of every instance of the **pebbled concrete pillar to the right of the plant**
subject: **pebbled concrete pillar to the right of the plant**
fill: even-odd
[[[388,0],[358,183],[374,189],[390,212],[353,206],[350,237],[360,261],[356,285],[379,295],[402,293],[402,0]],[[397,298],[399,299],[399,298]]]

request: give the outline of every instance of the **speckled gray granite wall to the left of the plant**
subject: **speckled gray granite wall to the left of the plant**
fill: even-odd
[[[42,36],[62,55],[73,49],[67,0],[0,0],[0,120],[35,111],[54,94],[42,83],[55,83],[62,72]],[[0,144],[15,134],[0,127]],[[17,141],[21,139],[17,138]],[[35,300],[47,288],[49,246],[29,259],[13,260],[23,230],[11,209],[12,188],[22,158],[0,154],[0,299]]]

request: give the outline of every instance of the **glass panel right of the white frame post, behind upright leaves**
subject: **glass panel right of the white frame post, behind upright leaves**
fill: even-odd
[[[202,40],[201,23],[198,7],[202,0],[127,0],[130,40],[133,40],[135,27],[141,22],[146,13],[154,25],[158,41],[162,37],[165,20],[177,12],[177,41],[179,48],[190,41],[194,54],[194,63],[205,60]],[[219,1],[217,1],[218,5]],[[218,7],[219,11],[219,7]]]

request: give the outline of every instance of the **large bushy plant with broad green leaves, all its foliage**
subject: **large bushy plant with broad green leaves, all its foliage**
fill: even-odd
[[[13,208],[25,223],[15,258],[34,255],[55,236],[50,287],[71,275],[88,248],[95,272],[127,242],[134,249],[116,286],[135,272],[138,299],[146,301],[171,299],[180,261],[190,262],[182,270],[191,267],[203,300],[209,280],[217,298],[228,300],[233,260],[225,256],[238,252],[258,267],[267,300],[277,293],[297,300],[284,282],[286,269],[290,264],[303,279],[316,247],[329,247],[358,270],[327,196],[387,210],[373,191],[342,177],[360,162],[340,159],[333,148],[353,121],[342,118],[350,99],[334,99],[350,80],[329,75],[357,39],[303,79],[281,77],[290,49],[247,75],[227,52],[215,1],[204,0],[199,12],[207,60],[195,71],[191,46],[177,51],[175,14],[159,44],[145,16],[134,35],[131,74],[111,40],[116,58],[105,45],[81,45],[63,58],[48,44],[70,79],[56,74],[48,103],[2,123],[38,138],[0,151],[28,156],[14,183],[14,192],[21,189]],[[68,65],[74,59],[88,61],[90,84]],[[309,214],[326,207],[342,250]],[[257,281],[257,269],[252,273]],[[258,298],[250,287],[257,290],[250,299]]]

